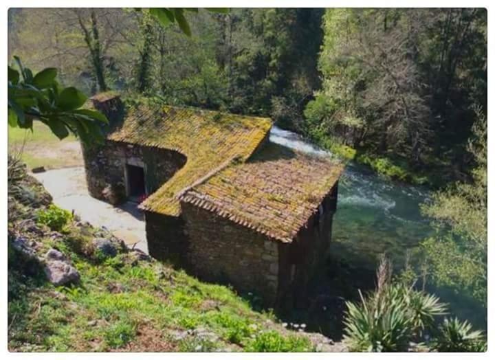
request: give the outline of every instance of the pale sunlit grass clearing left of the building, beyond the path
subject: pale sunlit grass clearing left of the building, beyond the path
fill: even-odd
[[[10,154],[22,150],[21,159],[30,169],[39,166],[56,169],[83,164],[76,137],[69,135],[59,140],[42,122],[34,122],[33,131],[9,126],[8,150]]]

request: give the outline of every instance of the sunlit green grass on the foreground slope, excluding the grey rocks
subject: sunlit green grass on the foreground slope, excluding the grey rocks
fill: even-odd
[[[10,350],[313,349],[303,335],[290,335],[272,313],[254,311],[227,286],[200,282],[155,260],[136,264],[130,252],[98,256],[91,249],[96,232],[89,225],[69,223],[61,238],[36,238],[39,254],[55,247],[72,260],[80,272],[78,286],[55,287],[43,280],[43,271],[26,277],[21,262],[10,254]],[[215,337],[187,333],[198,328]]]

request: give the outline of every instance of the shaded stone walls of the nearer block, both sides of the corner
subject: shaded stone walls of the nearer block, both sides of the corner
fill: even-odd
[[[261,295],[277,308],[305,306],[308,282],[327,257],[337,185],[292,243],[270,240],[208,210],[181,203],[181,216],[146,212],[150,255],[206,281]]]

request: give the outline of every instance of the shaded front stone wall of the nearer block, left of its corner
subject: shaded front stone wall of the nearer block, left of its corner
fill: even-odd
[[[257,232],[217,214],[181,203],[188,232],[187,267],[199,278],[232,284],[273,305],[278,286],[278,247]]]

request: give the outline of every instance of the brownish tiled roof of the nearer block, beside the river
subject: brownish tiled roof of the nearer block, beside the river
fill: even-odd
[[[291,242],[338,181],[343,164],[268,143],[193,186],[181,200]]]

